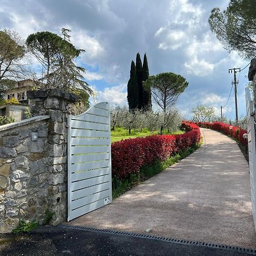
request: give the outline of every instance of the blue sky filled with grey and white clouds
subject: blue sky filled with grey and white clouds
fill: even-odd
[[[85,49],[79,64],[97,101],[126,105],[131,60],[147,53],[150,75],[174,72],[188,88],[177,101],[187,118],[199,104],[220,114],[228,100],[233,75],[249,61],[227,52],[212,34],[210,10],[224,10],[228,0],[0,0],[0,27],[22,38],[37,31],[60,34],[69,28],[72,43]],[[238,114],[245,114],[248,68],[238,74]],[[93,102],[92,102],[93,103]],[[235,118],[234,90],[224,113]]]

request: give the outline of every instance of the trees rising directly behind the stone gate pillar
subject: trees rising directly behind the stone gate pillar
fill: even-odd
[[[46,88],[60,88],[67,92],[76,93],[85,104],[88,104],[88,94],[92,90],[83,79],[85,69],[75,65],[74,61],[83,49],[76,49],[69,42],[69,30],[63,28],[64,38],[44,31],[28,36],[26,43],[32,55],[42,65],[42,77]]]

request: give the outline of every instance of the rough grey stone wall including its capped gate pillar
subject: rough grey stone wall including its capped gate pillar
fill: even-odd
[[[0,126],[0,233],[22,218],[42,224],[46,209],[51,224],[67,220],[67,115],[77,97],[56,89],[27,96],[36,117]]]

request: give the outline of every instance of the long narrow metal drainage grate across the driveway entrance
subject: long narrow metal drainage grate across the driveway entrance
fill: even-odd
[[[138,234],[138,233],[122,232],[122,231],[115,231],[115,230],[108,230],[108,229],[86,228],[84,226],[73,226],[73,225],[67,225],[67,224],[57,225],[57,227],[68,228],[68,229],[78,229],[78,230],[85,230],[85,231],[92,231],[92,232],[100,232],[100,233],[108,233],[108,234],[115,234],[115,235],[121,235],[121,236],[147,238],[147,239],[152,239],[152,240],[160,240],[160,241],[164,241],[164,242],[180,243],[183,245],[207,246],[207,247],[214,247],[214,248],[224,249],[224,250],[235,250],[235,251],[240,251],[241,253],[243,252],[243,253],[249,253],[249,254],[256,255],[255,249],[248,249],[248,248],[242,248],[242,247],[237,247],[237,246],[228,246],[228,245],[217,245],[216,243],[179,240],[179,239],[169,238],[169,237],[158,237],[158,236],[151,236],[148,234]]]

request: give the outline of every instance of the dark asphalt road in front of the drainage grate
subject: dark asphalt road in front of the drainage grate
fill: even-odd
[[[1,234],[1,256],[251,255],[238,250],[184,245],[125,235],[45,226],[31,234]]]

